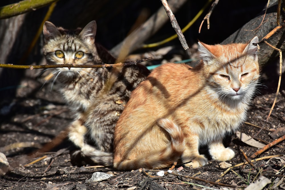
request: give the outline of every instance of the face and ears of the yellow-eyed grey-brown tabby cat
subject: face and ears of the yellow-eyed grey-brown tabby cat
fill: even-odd
[[[94,64],[94,53],[96,52],[94,38],[96,32],[95,22],[87,24],[80,32],[66,32],[58,29],[50,22],[44,24],[43,47],[44,55],[48,64]],[[58,71],[65,75],[75,75],[83,68],[58,68]]]

